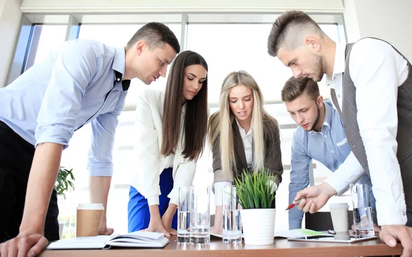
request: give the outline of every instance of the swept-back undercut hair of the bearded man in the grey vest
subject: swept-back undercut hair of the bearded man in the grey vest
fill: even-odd
[[[268,54],[276,57],[280,47],[296,49],[308,32],[324,35],[321,27],[308,14],[297,10],[284,12],[272,25],[268,36]]]

